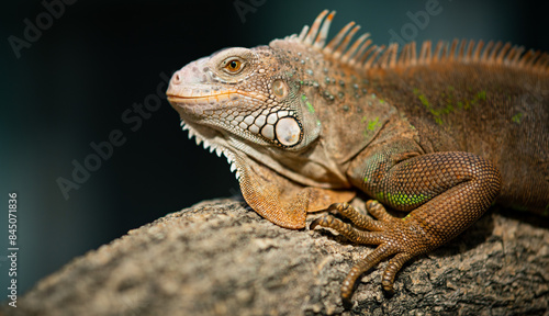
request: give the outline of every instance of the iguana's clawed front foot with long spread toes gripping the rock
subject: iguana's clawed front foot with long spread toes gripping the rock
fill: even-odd
[[[418,229],[419,226],[415,221],[407,221],[408,217],[393,217],[386,213],[383,205],[373,200],[368,201],[366,207],[378,221],[362,215],[348,203],[336,203],[326,211],[336,211],[350,219],[354,225],[344,223],[332,215],[324,215],[314,219],[310,226],[310,229],[317,226],[333,228],[357,244],[379,245],[376,250],[351,268],[343,282],[341,300],[347,303],[350,302],[357,279],[380,261],[394,255],[383,271],[381,281],[383,290],[392,292],[394,276],[402,266],[411,258],[429,250],[422,238],[424,234],[422,229]]]

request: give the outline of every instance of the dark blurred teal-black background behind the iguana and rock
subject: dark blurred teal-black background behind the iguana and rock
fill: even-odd
[[[9,192],[19,200],[20,294],[132,228],[204,199],[238,194],[228,165],[187,138],[166,100],[146,111],[138,128],[123,119],[155,98],[163,76],[194,59],[299,33],[323,9],[337,10],[332,35],[354,20],[374,43],[386,44],[391,30],[401,34],[410,14],[435,2],[439,14],[408,37],[501,40],[549,50],[547,10],[528,1],[65,1],[74,3],[2,3],[0,301],[9,282]],[[43,3],[64,3],[64,12],[48,21]],[[37,18],[44,30],[27,41],[25,19],[36,25]],[[94,154],[90,143],[108,142],[116,129],[125,143],[66,200],[59,177],[72,181],[74,161],[83,165]]]

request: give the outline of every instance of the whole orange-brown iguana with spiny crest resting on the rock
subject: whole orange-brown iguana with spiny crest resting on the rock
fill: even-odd
[[[183,129],[231,162],[246,202],[272,223],[333,228],[379,245],[349,272],[395,273],[469,227],[494,201],[549,210],[549,54],[473,41],[372,45],[335,12],[268,46],[227,48],[176,71]],[[349,202],[368,194],[362,215]],[[410,212],[404,218],[384,207]],[[332,212],[334,213],[334,212]]]

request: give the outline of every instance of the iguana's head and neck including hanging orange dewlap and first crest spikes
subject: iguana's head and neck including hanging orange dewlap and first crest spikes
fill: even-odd
[[[318,93],[329,64],[322,48],[334,12],[320,30],[326,14],[300,36],[192,61],[167,91],[189,136],[224,155],[248,204],[284,227],[303,227],[306,211],[350,196],[332,190],[349,184],[321,144],[315,110],[334,98]]]

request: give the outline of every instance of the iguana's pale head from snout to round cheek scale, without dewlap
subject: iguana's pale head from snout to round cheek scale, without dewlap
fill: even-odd
[[[248,144],[247,150],[304,148],[318,127],[307,124],[312,113],[303,111],[295,71],[277,56],[267,46],[235,47],[195,60],[173,74],[168,100],[214,149],[235,142]]]

